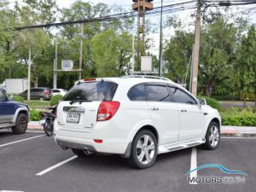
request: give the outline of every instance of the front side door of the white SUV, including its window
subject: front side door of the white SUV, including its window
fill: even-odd
[[[197,101],[186,91],[169,86],[173,102],[176,102],[180,113],[179,141],[201,137],[204,125],[204,114]]]

